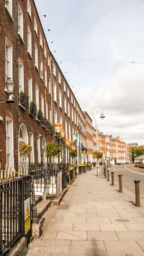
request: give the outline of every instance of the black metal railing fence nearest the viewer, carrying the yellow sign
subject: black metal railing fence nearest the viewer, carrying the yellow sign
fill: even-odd
[[[27,244],[30,242],[31,226],[27,234],[24,230],[24,200],[27,198],[30,198],[31,205],[30,176],[0,184],[0,254],[2,255],[11,250],[19,237],[26,237]]]

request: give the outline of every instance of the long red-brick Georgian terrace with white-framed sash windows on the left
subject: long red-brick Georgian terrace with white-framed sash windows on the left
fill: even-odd
[[[0,9],[1,101],[8,98],[6,81],[14,81],[15,101],[0,105],[1,169],[17,168],[24,161],[19,157],[19,141],[31,144],[31,163],[46,162],[44,147],[58,142],[54,131],[58,121],[66,138],[75,141],[79,134],[86,146],[86,118],[50,52],[35,2],[0,0]],[[69,148],[63,138],[59,142],[60,160],[67,162]]]

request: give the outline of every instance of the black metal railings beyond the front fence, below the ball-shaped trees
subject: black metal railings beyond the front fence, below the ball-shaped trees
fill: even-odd
[[[20,175],[31,175],[34,180],[35,195],[58,196],[60,190],[57,182],[58,173],[61,172],[62,190],[68,183],[68,164],[55,163],[21,163]]]

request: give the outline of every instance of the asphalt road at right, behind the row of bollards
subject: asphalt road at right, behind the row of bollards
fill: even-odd
[[[114,180],[119,182],[118,175],[122,175],[122,186],[135,194],[134,180],[140,180],[140,198],[144,199],[144,169],[132,167],[132,164],[114,165],[110,172],[114,170]],[[111,173],[109,173],[111,179]]]

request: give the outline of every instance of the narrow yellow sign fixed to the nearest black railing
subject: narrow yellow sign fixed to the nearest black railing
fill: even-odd
[[[24,200],[24,234],[30,230],[30,198]]]

